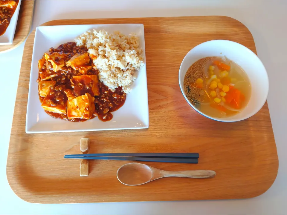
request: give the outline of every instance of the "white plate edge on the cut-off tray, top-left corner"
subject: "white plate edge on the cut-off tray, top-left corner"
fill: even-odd
[[[5,33],[0,36],[0,45],[10,45],[13,43],[14,34],[16,30],[19,10],[20,10],[21,0],[19,1],[16,10],[10,20],[10,24],[8,25]]]

